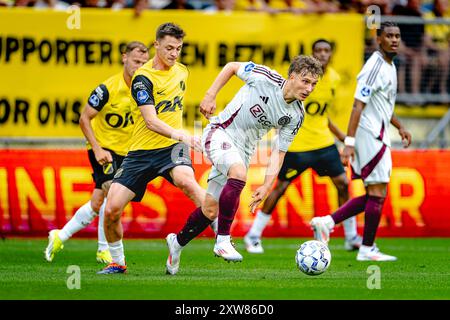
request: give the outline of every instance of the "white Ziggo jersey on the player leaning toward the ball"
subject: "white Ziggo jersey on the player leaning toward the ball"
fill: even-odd
[[[225,109],[210,122],[218,124],[247,156],[272,128],[280,129],[278,148],[286,152],[304,117],[303,105],[286,103],[286,80],[277,72],[253,62],[241,63],[237,76],[246,83]]]

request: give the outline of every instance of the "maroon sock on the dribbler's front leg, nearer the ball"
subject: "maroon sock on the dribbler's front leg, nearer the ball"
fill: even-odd
[[[245,187],[245,181],[228,179],[223,187],[219,198],[219,223],[217,234],[227,236],[230,234],[231,224],[234,220],[234,215],[239,208],[239,198],[241,191]]]

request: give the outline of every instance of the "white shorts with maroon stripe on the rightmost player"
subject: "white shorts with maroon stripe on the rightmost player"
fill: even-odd
[[[355,136],[355,160],[351,162],[353,178],[364,185],[389,183],[392,172],[391,149],[370,132],[358,128]]]

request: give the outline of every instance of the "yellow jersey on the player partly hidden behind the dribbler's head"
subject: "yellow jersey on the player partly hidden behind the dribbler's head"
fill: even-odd
[[[289,152],[313,151],[334,144],[334,135],[328,128],[328,112],[335,107],[339,74],[328,67],[314,91],[303,102],[305,121],[289,148]]]

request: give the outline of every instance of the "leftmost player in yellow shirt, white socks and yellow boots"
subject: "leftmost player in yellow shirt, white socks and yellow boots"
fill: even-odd
[[[87,227],[98,215],[97,261],[111,262],[103,230],[105,197],[115,171],[128,151],[134,120],[131,116],[130,85],[135,71],[149,59],[148,48],[141,42],[127,44],[122,54],[123,70],[92,91],[80,117],[80,127],[87,140],[89,162],[95,189],[91,200],[81,206],[61,229],[49,233],[45,259],[51,262],[63,243]],[[103,205],[102,205],[103,204]]]

